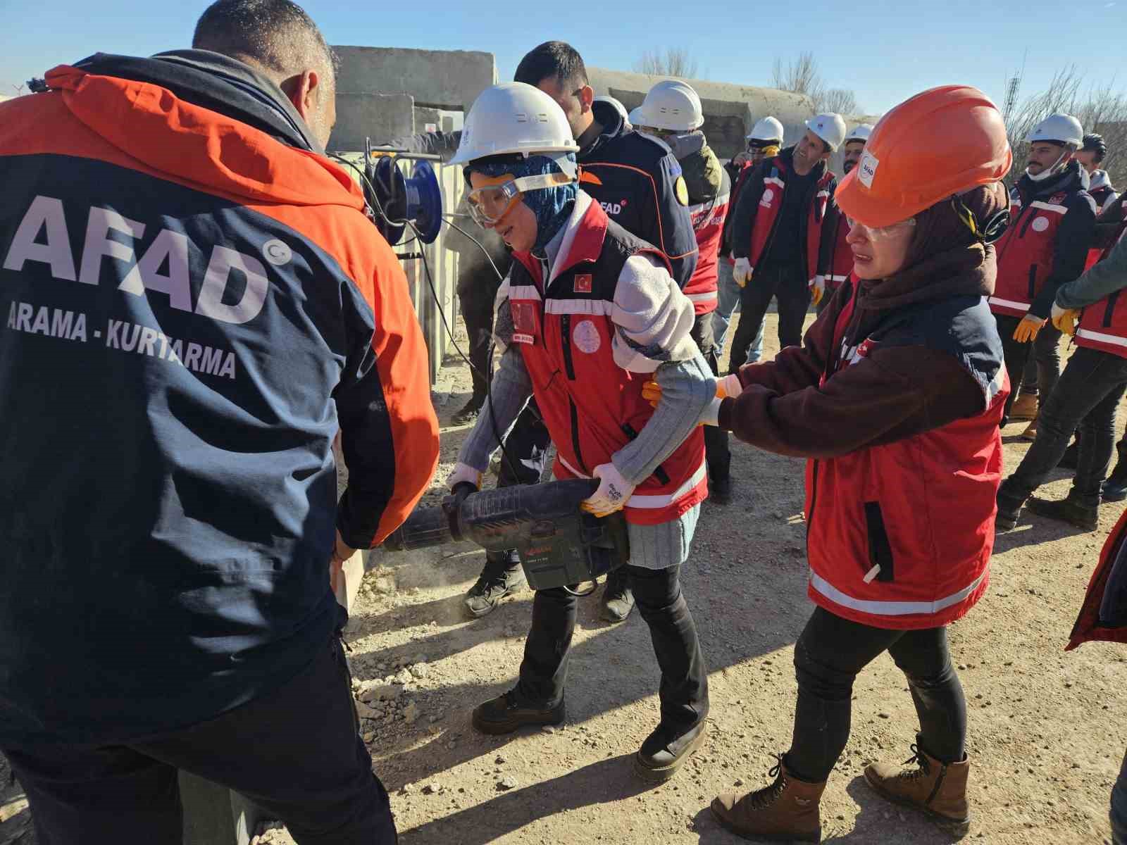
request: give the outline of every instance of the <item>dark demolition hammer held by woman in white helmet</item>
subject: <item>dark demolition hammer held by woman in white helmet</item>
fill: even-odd
[[[412,513],[383,548],[410,551],[469,540],[487,551],[516,549],[533,589],[591,581],[630,557],[621,510],[598,518],[579,509],[579,502],[597,489],[598,479],[480,492],[462,483],[438,507]]]

